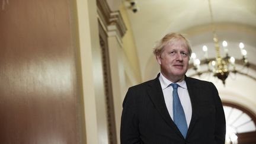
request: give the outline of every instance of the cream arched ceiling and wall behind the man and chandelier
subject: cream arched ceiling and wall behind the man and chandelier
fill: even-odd
[[[209,56],[215,57],[208,0],[137,0],[139,11],[136,13],[128,8],[129,1],[123,2],[124,5],[127,5],[143,81],[155,78],[156,73],[159,72],[152,49],[156,41],[166,33],[185,34],[197,57],[203,57],[201,50],[203,45],[207,45]],[[256,1],[212,0],[211,2],[220,46],[223,40],[228,41],[229,54],[236,59],[241,59],[238,44],[243,42],[249,62],[256,65]],[[245,70],[245,72],[247,71],[248,69]],[[188,71],[188,73],[193,72],[193,69]],[[250,75],[255,76],[255,73],[255,71],[249,70]],[[229,76],[226,87],[223,87],[221,81],[217,81],[216,78],[204,76],[201,79],[214,82],[223,99],[249,104],[249,107],[256,113],[255,80],[237,74],[233,78],[236,79],[235,81]],[[249,86],[246,91],[241,88],[245,85]],[[246,98],[244,98],[245,96]]]

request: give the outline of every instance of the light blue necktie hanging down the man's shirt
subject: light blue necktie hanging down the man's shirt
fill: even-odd
[[[187,121],[185,120],[185,113],[183,110],[183,106],[181,105],[180,98],[178,96],[178,87],[179,85],[176,83],[171,84],[173,91],[172,91],[172,111],[173,111],[173,120],[178,129],[180,130],[181,134],[185,138],[187,136]]]

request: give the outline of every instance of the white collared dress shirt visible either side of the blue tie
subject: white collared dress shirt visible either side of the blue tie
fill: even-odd
[[[171,116],[171,119],[173,120],[173,111],[172,111],[172,87],[169,86],[173,82],[169,81],[167,78],[160,73],[159,81],[162,87],[162,91],[164,93],[164,100],[165,104],[167,105],[167,110],[169,112],[169,115]],[[187,84],[185,81],[177,82],[180,87],[178,87],[178,95],[181,101],[181,105],[183,106],[183,110],[185,113],[185,118],[187,121],[187,126],[189,126],[192,116],[192,106],[190,101],[190,96],[188,94],[187,90]]]

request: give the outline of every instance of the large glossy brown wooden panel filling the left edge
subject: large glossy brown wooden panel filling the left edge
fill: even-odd
[[[70,11],[63,0],[0,10],[0,143],[79,142]]]

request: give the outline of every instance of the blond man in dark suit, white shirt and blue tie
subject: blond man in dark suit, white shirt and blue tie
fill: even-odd
[[[167,34],[154,54],[161,72],[130,87],[124,98],[121,143],[225,143],[225,114],[215,85],[185,76],[191,56],[187,39]]]

